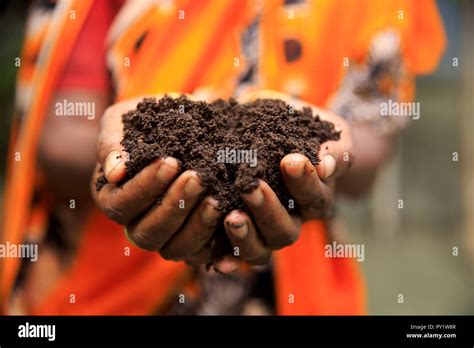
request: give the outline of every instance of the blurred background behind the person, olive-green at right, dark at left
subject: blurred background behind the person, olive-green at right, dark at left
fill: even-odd
[[[1,5],[0,182],[27,3]],[[349,238],[365,244],[371,314],[474,314],[474,6],[438,4],[449,46],[438,71],[417,80],[421,118],[403,134],[369,197],[338,202]]]

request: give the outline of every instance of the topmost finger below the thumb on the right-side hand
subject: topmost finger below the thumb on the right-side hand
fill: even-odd
[[[332,190],[320,180],[307,157],[297,153],[286,155],[280,170],[288,192],[301,208],[324,212],[331,206]]]

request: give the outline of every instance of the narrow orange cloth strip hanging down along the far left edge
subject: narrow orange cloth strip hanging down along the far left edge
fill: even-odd
[[[8,157],[5,181],[2,242],[19,244],[25,239],[38,174],[35,168],[36,150],[42,123],[48,102],[91,4],[92,1],[62,2],[57,7],[54,20],[43,18],[45,23],[39,31],[29,31],[29,40],[23,47],[25,59],[19,72],[18,87],[27,89],[23,95],[28,97],[23,96],[18,105],[21,118],[13,120],[11,156]],[[70,11],[74,11],[74,21],[69,19]],[[74,24],[71,25],[71,22]],[[33,57],[42,60],[41,67],[32,63],[35,61]],[[20,156],[20,160],[15,154]],[[2,261],[0,300],[4,312],[19,270],[19,261],[11,258]]]

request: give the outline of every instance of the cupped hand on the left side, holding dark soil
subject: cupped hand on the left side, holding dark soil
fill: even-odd
[[[91,183],[94,201],[107,217],[125,226],[128,238],[136,246],[158,251],[167,260],[184,260],[192,265],[210,263],[211,250],[206,243],[221,212],[216,209],[218,202],[211,197],[198,203],[204,188],[196,172],[188,170],[178,175],[177,160],[167,157],[155,160],[123,185],[117,185],[126,175],[128,156],[120,145],[122,114],[135,109],[142,99],[114,104],[102,117],[96,152],[98,165]],[[95,181],[102,174],[108,183],[96,191]],[[158,197],[163,197],[159,204]],[[224,273],[237,266],[228,257],[214,265]]]

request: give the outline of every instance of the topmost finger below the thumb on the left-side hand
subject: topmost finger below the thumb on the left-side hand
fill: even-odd
[[[109,219],[126,225],[152,206],[178,173],[177,160],[167,157],[146,166],[123,186],[106,184],[100,191],[92,188],[92,194]],[[97,179],[99,170],[95,175]]]

